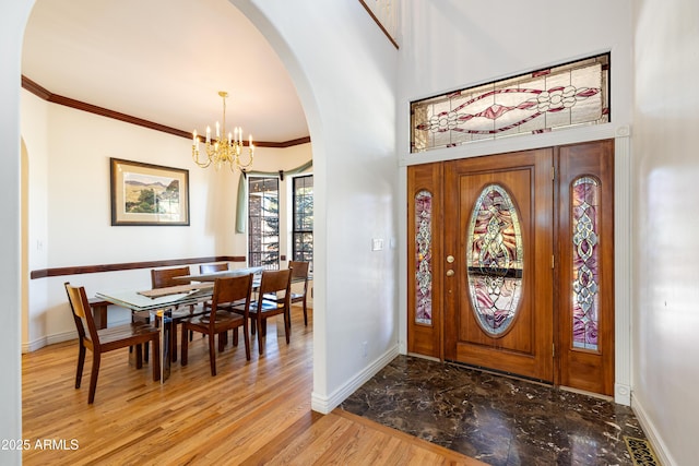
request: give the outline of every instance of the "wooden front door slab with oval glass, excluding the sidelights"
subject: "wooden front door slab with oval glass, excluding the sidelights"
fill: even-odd
[[[445,167],[445,358],[553,382],[553,150]]]

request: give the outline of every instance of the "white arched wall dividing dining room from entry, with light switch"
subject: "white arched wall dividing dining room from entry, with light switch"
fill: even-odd
[[[396,353],[398,52],[357,1],[232,3],[280,53],[309,123],[312,406],[328,411]],[[386,249],[372,252],[372,238]]]

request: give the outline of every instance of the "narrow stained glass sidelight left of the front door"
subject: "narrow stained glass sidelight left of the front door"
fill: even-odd
[[[415,322],[433,323],[433,194],[415,195]]]

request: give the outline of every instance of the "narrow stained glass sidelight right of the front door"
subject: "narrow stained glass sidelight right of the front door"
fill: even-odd
[[[572,183],[572,346],[597,349],[597,206],[600,183],[582,177]]]

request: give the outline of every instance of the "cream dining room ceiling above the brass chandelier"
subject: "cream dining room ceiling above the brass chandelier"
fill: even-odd
[[[51,94],[202,134],[222,119],[257,142],[307,138],[298,95],[228,0],[37,0],[22,74]]]

